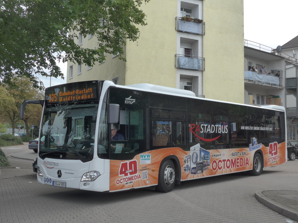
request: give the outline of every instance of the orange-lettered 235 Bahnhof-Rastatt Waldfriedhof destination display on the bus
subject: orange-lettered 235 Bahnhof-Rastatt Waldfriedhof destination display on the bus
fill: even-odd
[[[69,85],[58,88],[49,88],[45,92],[49,104],[71,103],[97,99],[97,84]]]

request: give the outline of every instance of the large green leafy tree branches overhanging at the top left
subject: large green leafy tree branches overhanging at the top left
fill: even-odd
[[[13,73],[43,86],[34,74],[63,77],[56,61],[92,65],[103,52],[120,54],[126,40],[139,37],[146,25],[140,9],[149,0],[3,0],[0,13],[0,81],[12,84]],[[81,48],[77,33],[93,35],[97,48]]]

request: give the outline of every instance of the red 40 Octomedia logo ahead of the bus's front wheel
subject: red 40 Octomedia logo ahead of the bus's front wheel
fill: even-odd
[[[141,179],[141,176],[138,173],[138,163],[136,160],[122,162],[119,168],[119,176],[123,176],[123,178],[117,179],[117,184],[130,184],[133,183],[134,180]]]

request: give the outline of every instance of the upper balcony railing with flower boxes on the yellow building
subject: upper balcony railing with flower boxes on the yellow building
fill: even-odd
[[[176,30],[179,32],[205,35],[205,23],[185,21],[183,19],[180,19],[180,17],[176,17]]]

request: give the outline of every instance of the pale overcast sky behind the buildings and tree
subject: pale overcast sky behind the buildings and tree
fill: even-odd
[[[298,36],[297,14],[297,0],[244,0],[244,39],[275,49]],[[67,64],[59,66],[64,80],[52,78],[51,86],[66,83]],[[40,79],[50,86],[49,77]]]

